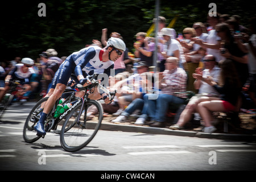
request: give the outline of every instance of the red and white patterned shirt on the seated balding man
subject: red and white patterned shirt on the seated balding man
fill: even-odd
[[[163,72],[163,82],[161,84],[161,92],[176,97],[187,98],[187,73],[182,68],[175,68],[171,71],[165,70]],[[175,92],[182,92],[176,94]]]

